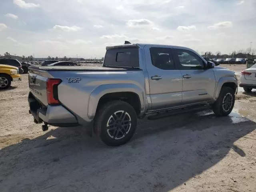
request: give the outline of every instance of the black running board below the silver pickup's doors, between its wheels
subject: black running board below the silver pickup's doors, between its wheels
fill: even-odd
[[[186,114],[188,112],[200,112],[208,109],[212,109],[212,106],[204,105],[204,106],[192,106],[192,107],[186,107],[186,108],[180,108],[180,109],[173,109],[165,112],[157,112],[155,115],[150,115],[148,116],[148,120],[156,120],[156,119],[165,118],[168,116]]]

